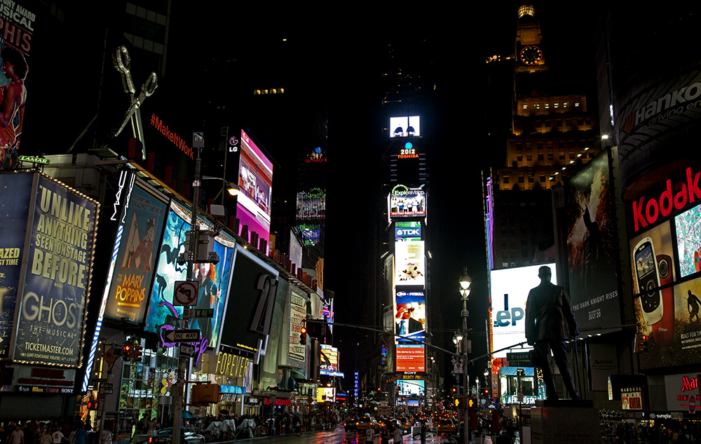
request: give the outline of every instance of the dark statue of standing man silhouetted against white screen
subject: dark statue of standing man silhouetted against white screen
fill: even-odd
[[[531,289],[526,302],[526,340],[535,349],[533,364],[543,369],[545,394],[547,399],[557,399],[555,375],[552,371],[550,351],[560,370],[565,387],[573,400],[579,399],[572,371],[567,363],[567,349],[564,340],[574,339],[579,332],[564,288],[550,282],[550,267],[538,269],[540,285]]]

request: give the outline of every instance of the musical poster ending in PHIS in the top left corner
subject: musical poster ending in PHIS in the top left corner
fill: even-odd
[[[33,26],[36,22],[36,15],[26,8],[27,3],[15,4],[12,1],[4,5],[11,6],[0,8],[4,34],[0,62],[11,69],[3,69],[4,76],[0,76],[0,97],[3,97],[2,108],[8,120],[7,123],[0,123],[0,149],[4,154],[0,171],[18,168],[18,156],[29,154],[20,152],[20,134],[30,83],[27,79],[29,52],[32,50]]]

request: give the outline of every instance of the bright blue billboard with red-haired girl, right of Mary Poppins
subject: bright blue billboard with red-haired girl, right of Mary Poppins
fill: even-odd
[[[190,223],[186,221],[189,220],[189,210],[171,202],[158,257],[156,282],[151,290],[144,327],[147,331],[156,332],[159,326],[166,323],[166,316],[182,318],[182,307],[173,306],[172,302],[175,281],[186,281],[187,278],[187,265],[178,264],[177,257],[184,253],[186,248],[186,232],[190,229]],[[201,220],[200,227],[203,227]],[[214,309],[214,317],[193,318],[190,328],[201,330],[201,336],[207,338],[209,347],[213,348],[216,348],[219,342],[235,245],[231,239],[218,236],[215,238],[214,251],[219,255],[219,264],[195,264],[193,269],[193,277],[199,283],[199,293],[197,304],[192,308]]]

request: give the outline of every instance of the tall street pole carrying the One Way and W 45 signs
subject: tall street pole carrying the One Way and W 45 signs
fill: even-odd
[[[187,255],[187,280],[193,281],[192,269],[195,265],[195,254],[197,253],[197,207],[200,203],[200,181],[202,180],[202,173],[200,172],[200,151],[204,146],[203,138],[201,133],[199,137],[194,137],[192,149],[197,150],[197,159],[195,161],[195,180],[192,182],[192,218],[190,220],[190,233],[189,233],[189,245]],[[186,329],[190,325],[190,320],[186,313],[189,307],[183,308],[183,319],[182,328]],[[172,433],[172,444],[180,444],[180,433],[179,430],[182,427],[182,398],[185,386],[185,381],[189,378],[189,360],[190,358],[185,356],[185,354],[179,354],[178,366],[177,366],[177,381],[173,386],[173,433]],[[183,443],[184,444],[184,443]]]

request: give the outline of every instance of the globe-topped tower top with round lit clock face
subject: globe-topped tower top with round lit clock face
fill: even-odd
[[[539,72],[547,69],[545,51],[543,50],[543,35],[540,33],[540,22],[536,19],[536,10],[531,5],[519,8],[516,27],[516,71]]]

